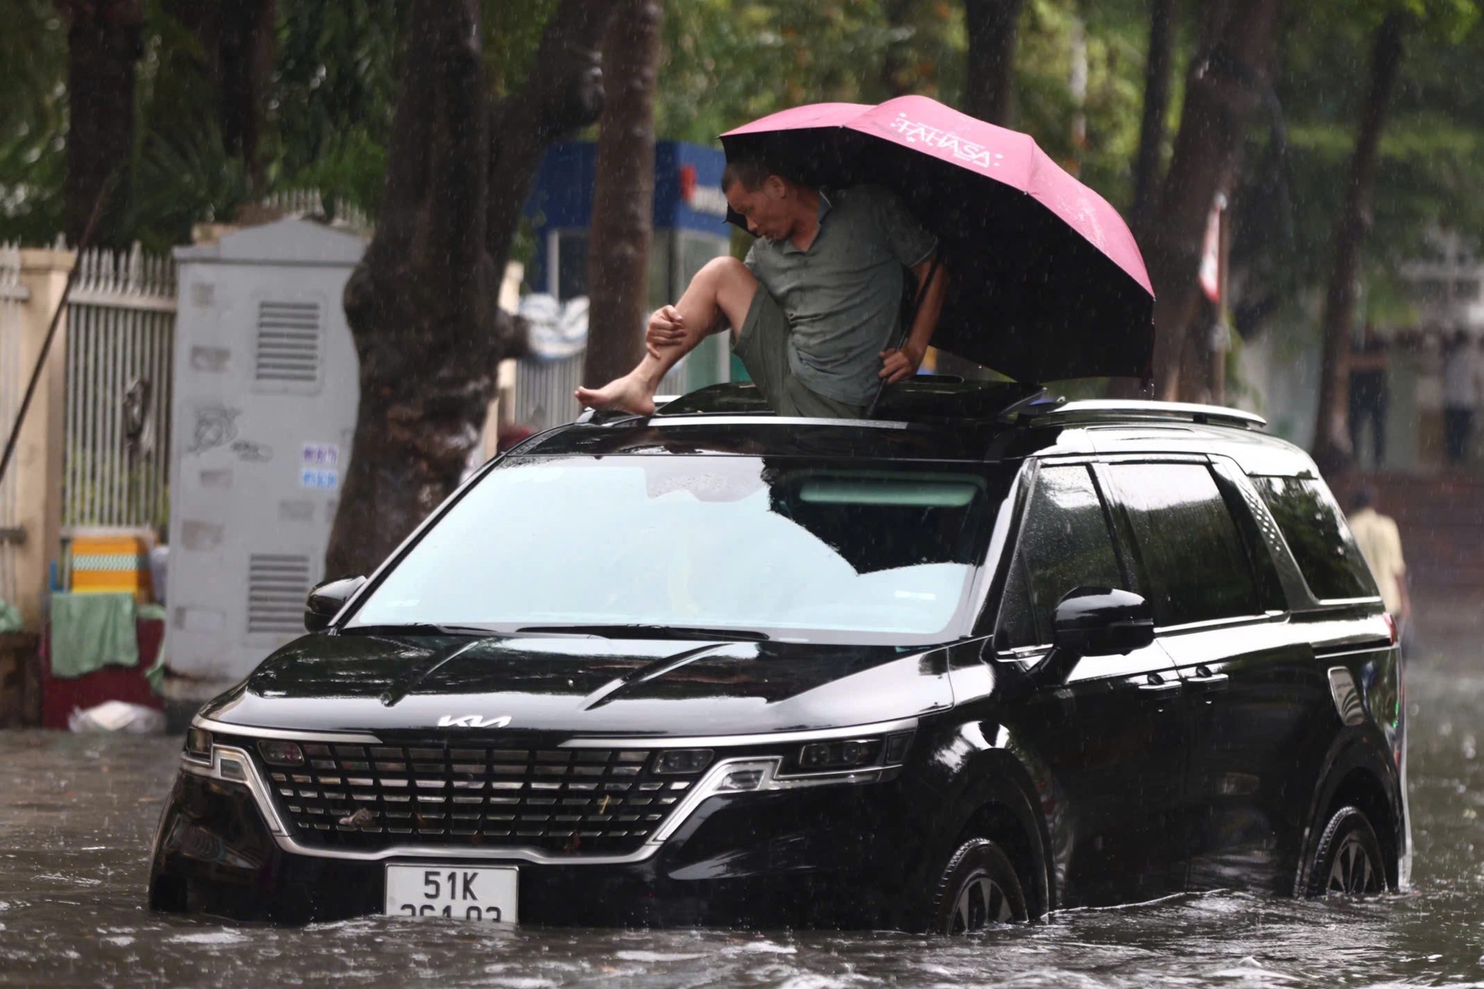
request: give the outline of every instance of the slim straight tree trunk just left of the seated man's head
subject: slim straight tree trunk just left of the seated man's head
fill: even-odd
[[[662,0],[622,0],[603,43],[603,123],[588,249],[589,387],[644,356],[649,252],[654,218],[654,87]]]

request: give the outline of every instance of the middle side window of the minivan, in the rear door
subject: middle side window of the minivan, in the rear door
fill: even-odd
[[[1251,566],[1205,464],[1109,464],[1156,626],[1261,614]]]

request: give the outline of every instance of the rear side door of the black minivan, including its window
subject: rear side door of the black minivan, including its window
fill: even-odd
[[[1298,753],[1327,722],[1327,685],[1235,477],[1208,463],[1109,463],[1120,546],[1186,694],[1181,817],[1192,888],[1287,891]]]

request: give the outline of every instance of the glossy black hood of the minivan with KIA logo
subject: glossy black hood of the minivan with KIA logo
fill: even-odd
[[[454,731],[473,715],[509,718],[502,735],[757,734],[948,707],[947,666],[942,648],[310,635],[202,715],[304,731]]]

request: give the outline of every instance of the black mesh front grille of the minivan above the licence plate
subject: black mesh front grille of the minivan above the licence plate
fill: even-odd
[[[307,765],[261,762],[279,814],[312,847],[522,847],[625,854],[690,780],[649,773],[651,752],[301,743]]]

